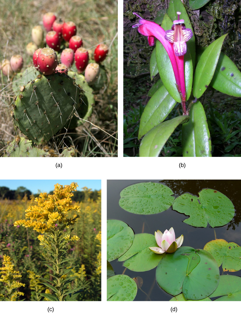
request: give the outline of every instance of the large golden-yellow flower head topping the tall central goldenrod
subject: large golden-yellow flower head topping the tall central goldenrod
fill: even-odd
[[[25,227],[33,227],[38,233],[45,233],[58,226],[74,225],[76,218],[66,218],[66,213],[70,210],[79,212],[79,206],[71,205],[73,191],[76,191],[78,184],[72,182],[70,185],[54,185],[54,194],[50,195],[46,192],[40,193],[35,198],[38,205],[29,206],[25,210],[25,219],[20,219],[14,223],[14,226],[22,225]],[[79,217],[79,215],[77,215]],[[76,239],[74,239],[76,240]]]

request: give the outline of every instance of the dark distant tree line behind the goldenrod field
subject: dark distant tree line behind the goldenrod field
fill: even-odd
[[[50,194],[53,194],[53,191],[49,192]],[[10,190],[8,187],[0,187],[0,199],[9,199],[9,200],[17,200],[17,199],[23,199],[23,197],[27,195],[28,199],[30,199],[30,196],[32,192],[28,190],[25,187],[18,187],[17,190]],[[33,194],[34,198],[39,196],[39,193]],[[85,201],[88,200],[88,198],[92,199],[93,201],[96,201],[98,199],[98,190],[91,191],[90,189],[85,191],[74,191],[74,197],[72,197],[73,201]]]

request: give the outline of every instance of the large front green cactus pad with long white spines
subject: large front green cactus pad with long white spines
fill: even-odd
[[[15,127],[35,144],[45,144],[71,119],[82,93],[66,74],[39,73],[36,79],[21,86],[14,98]]]

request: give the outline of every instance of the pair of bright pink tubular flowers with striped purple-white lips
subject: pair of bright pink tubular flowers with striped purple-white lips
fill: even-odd
[[[184,76],[184,54],[187,52],[186,41],[192,37],[192,30],[186,28],[184,20],[180,20],[180,12],[178,20],[175,20],[172,25],[172,30],[165,30],[158,24],[142,19],[136,13],[134,15],[140,18],[139,23],[132,27],[138,27],[138,32],[147,36],[150,46],[154,45],[154,37],[156,37],[164,46],[170,58],[172,69],[174,71],[177,90],[181,97],[183,115],[187,114],[186,111],[186,86]]]

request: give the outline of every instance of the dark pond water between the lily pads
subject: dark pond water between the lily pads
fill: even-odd
[[[120,192],[122,189],[138,182],[161,182],[172,189],[174,197],[177,198],[184,192],[190,192],[198,196],[203,188],[216,189],[227,196],[234,205],[235,215],[233,220],[225,226],[211,228],[208,224],[206,228],[192,227],[182,221],[188,218],[180,214],[172,207],[168,210],[153,215],[138,215],[125,211],[119,206]],[[241,181],[240,180],[107,180],[107,219],[118,219],[127,223],[137,233],[151,233],[159,229],[162,233],[173,227],[176,237],[183,234],[182,246],[190,246],[195,249],[203,249],[204,245],[215,239],[225,239],[228,242],[235,242],[241,246]],[[124,262],[118,260],[111,261],[111,265],[116,274],[125,274],[134,277],[141,277],[143,285],[138,289],[134,301],[169,301],[172,295],[163,291],[156,283],[156,268],[146,272],[133,272],[123,267]],[[126,270],[125,270],[126,269]],[[219,268],[222,274],[222,265]],[[224,274],[241,276],[241,270],[237,272],[224,272]],[[145,294],[146,293],[146,294]]]

